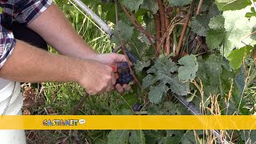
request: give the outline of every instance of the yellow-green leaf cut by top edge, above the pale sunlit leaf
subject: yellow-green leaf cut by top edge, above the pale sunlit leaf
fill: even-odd
[[[215,0],[219,10],[241,10],[251,5],[250,0]]]

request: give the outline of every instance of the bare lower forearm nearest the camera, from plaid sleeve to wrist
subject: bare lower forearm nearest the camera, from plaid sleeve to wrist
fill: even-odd
[[[18,82],[78,82],[81,73],[78,67],[82,63],[17,41],[13,54],[0,70],[0,77]]]

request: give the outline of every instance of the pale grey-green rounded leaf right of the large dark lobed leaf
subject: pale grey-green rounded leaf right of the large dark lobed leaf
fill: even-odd
[[[187,55],[181,58],[178,64],[182,65],[178,68],[178,78],[184,81],[193,81],[198,71],[197,58],[193,54]]]

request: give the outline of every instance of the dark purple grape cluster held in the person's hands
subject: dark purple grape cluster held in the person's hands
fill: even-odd
[[[121,62],[118,64],[118,76],[117,83],[120,85],[128,84],[134,80],[134,77],[130,74],[129,66],[127,62]]]

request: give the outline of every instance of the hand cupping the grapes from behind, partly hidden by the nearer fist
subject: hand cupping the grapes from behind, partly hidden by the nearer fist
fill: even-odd
[[[118,65],[119,62],[127,62],[126,61],[126,56],[123,54],[116,54],[116,53],[110,53],[110,54],[98,54],[95,57],[95,60],[98,62],[102,62],[106,65]],[[129,62],[131,64],[131,62]],[[120,85],[117,84],[115,86],[115,89],[118,90],[119,93],[123,93],[125,90],[130,90],[129,85]]]

